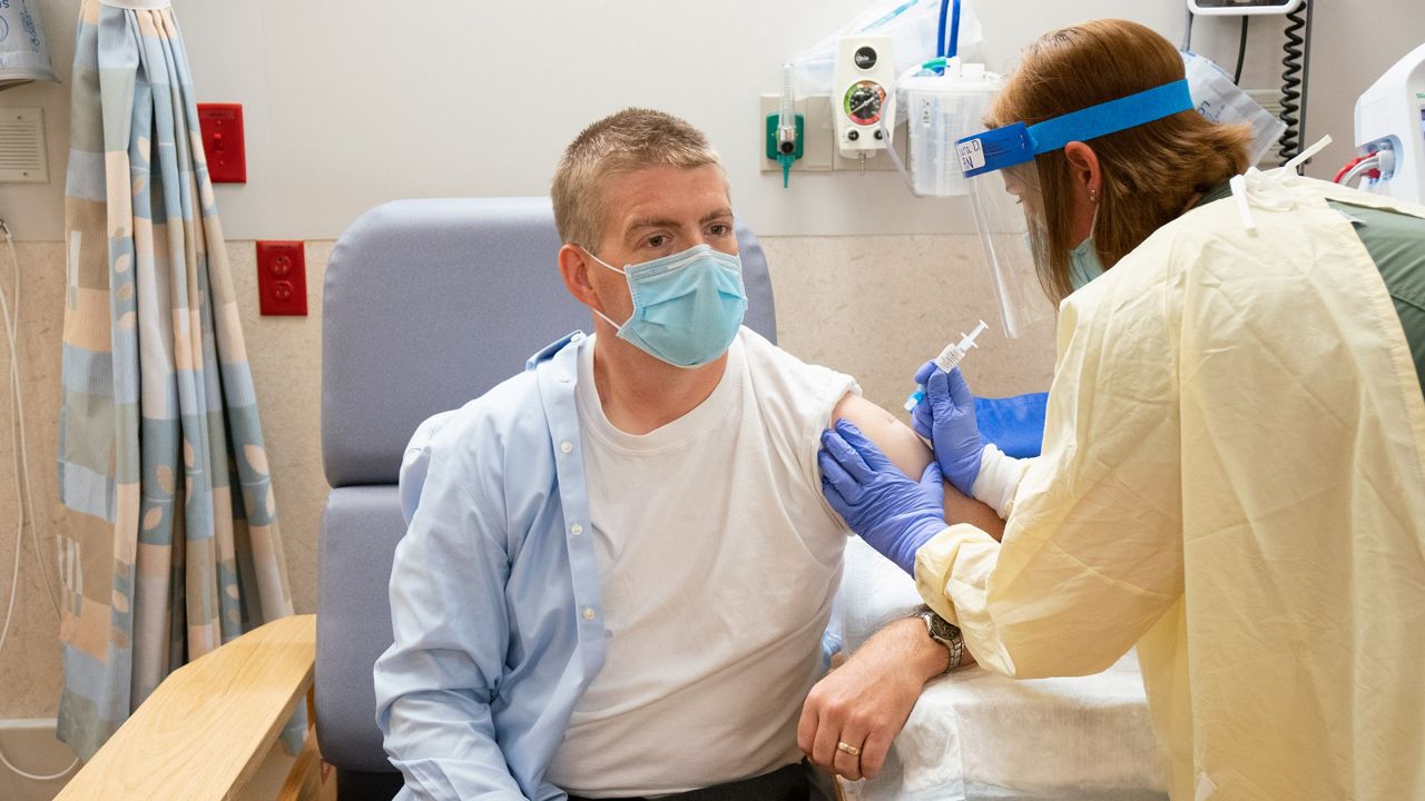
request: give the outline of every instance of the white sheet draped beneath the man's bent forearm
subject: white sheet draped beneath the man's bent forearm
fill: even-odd
[[[844,644],[861,647],[921,603],[861,539],[846,547]],[[1097,676],[1013,680],[966,668],[932,681],[875,780],[848,801],[1164,801],[1137,656]]]

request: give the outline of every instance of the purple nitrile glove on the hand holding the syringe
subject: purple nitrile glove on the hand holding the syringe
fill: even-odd
[[[925,385],[925,398],[911,413],[911,428],[931,440],[940,472],[965,497],[979,477],[985,442],[975,422],[975,395],[965,383],[960,368],[945,372],[935,362],[925,362],[915,373]]]

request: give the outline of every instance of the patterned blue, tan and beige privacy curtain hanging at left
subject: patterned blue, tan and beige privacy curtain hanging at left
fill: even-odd
[[[168,673],[292,614],[188,58],[165,6],[84,0],[74,53],[58,734],[83,758]],[[294,720],[289,744],[301,730]]]

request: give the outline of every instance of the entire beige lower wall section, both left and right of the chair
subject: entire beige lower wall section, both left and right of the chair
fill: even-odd
[[[782,346],[852,373],[868,398],[898,413],[915,369],[945,341],[973,325],[976,315],[992,309],[976,237],[770,237],[762,244]],[[318,399],[322,275],[331,251],[329,241],[306,244],[312,315],[264,318],[256,314],[252,242],[228,245],[298,611],[315,610],[316,532],[326,497]],[[26,292],[20,371],[30,472],[44,574],[53,586],[54,536],[67,524],[54,486],[64,248],[58,242],[24,242],[19,254]],[[1052,336],[1050,322],[1009,342],[992,328],[980,339],[982,349],[966,359],[972,386],[986,395],[1047,388]],[[0,419],[7,415],[9,400],[0,398]],[[10,486],[10,446],[3,439],[0,487],[7,492]],[[13,503],[11,496],[0,496],[4,584],[14,553]],[[11,641],[0,654],[0,718],[50,717],[60,690],[57,619],[44,600],[28,534],[20,573]]]

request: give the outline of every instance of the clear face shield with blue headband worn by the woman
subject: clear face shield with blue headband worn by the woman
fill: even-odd
[[[1187,81],[1173,81],[1036,125],[1015,123],[956,143],[1006,336],[1019,336],[1053,311],[1039,281],[1040,268],[1049,267],[1049,229],[1035,157],[1191,108]]]

